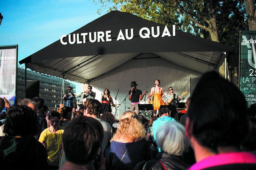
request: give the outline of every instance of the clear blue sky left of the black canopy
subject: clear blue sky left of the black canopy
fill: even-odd
[[[100,7],[93,0],[0,0],[0,46],[18,45],[20,61],[106,14],[97,14]]]

